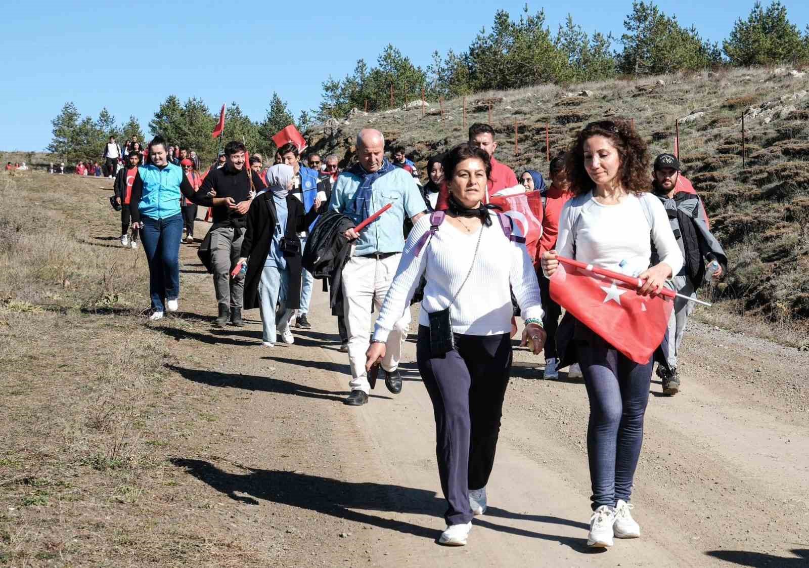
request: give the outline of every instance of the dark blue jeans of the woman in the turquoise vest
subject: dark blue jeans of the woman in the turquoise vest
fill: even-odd
[[[149,261],[149,294],[152,308],[163,312],[163,299],[180,297],[180,237],[183,215],[164,219],[142,217],[141,242]]]

